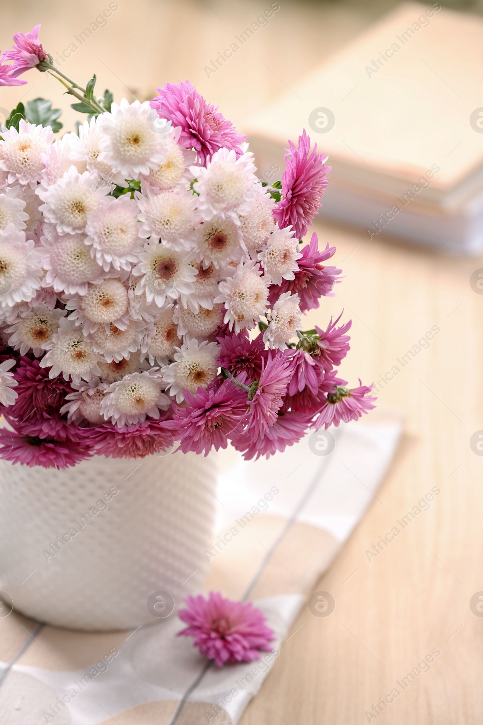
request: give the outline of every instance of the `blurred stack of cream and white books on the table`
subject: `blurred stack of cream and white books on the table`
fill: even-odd
[[[482,48],[480,17],[398,6],[248,121],[261,178],[281,178],[281,149],[306,128],[332,166],[322,217],[480,252]]]

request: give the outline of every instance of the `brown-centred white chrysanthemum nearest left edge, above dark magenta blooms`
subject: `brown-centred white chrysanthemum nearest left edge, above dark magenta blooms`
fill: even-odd
[[[43,355],[42,345],[49,342],[59,328],[59,319],[67,315],[65,310],[49,310],[47,305],[25,305],[12,327],[7,328],[9,346],[27,355],[31,349],[35,357]]]

